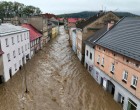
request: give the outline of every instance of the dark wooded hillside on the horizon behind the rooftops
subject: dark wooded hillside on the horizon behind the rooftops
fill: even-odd
[[[91,16],[94,16],[98,13],[98,11],[84,11],[84,12],[79,12],[79,13],[70,13],[70,14],[61,14],[58,15],[59,17],[66,17],[66,18],[89,18]],[[114,12],[117,16],[120,17],[132,17],[132,16],[138,16],[135,14],[132,14],[130,12]]]

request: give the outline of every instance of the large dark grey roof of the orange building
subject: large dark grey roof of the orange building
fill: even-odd
[[[140,18],[122,19],[97,44],[140,61]]]

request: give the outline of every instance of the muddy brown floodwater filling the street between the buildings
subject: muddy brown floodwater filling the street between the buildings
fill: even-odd
[[[25,93],[25,74],[29,93]],[[63,28],[0,85],[0,110],[121,110],[78,61]]]

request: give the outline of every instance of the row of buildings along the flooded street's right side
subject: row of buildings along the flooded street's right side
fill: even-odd
[[[100,12],[69,34],[72,50],[104,90],[124,110],[140,110],[140,18]]]

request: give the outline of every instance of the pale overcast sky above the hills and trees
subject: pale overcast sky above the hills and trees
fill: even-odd
[[[2,0],[0,0],[2,1]],[[127,11],[140,15],[140,0],[6,0],[39,7],[43,13],[66,14],[81,11]]]

